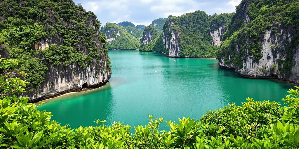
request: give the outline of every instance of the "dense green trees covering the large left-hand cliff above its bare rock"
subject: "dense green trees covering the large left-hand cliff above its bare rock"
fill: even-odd
[[[9,52],[10,58],[19,59],[19,69],[28,74],[26,80],[31,88],[44,82],[51,65],[76,63],[86,68],[99,55],[109,61],[105,36],[97,35],[99,20],[71,0],[3,0],[0,12],[2,50]],[[39,49],[46,43],[50,45]]]

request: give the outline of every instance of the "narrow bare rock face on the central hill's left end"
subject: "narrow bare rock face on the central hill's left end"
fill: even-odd
[[[166,56],[169,57],[179,57],[180,52],[180,44],[179,44],[179,36],[180,32],[178,28],[172,27],[174,25],[173,21],[166,21],[166,27],[163,29],[163,45],[164,48],[167,49]]]

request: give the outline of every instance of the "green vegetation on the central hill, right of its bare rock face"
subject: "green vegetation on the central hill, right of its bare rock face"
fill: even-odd
[[[168,30],[167,23],[173,22],[180,33],[179,56],[189,57],[212,57],[216,50],[215,46],[210,45],[212,37],[207,34],[210,25],[210,18],[204,11],[187,13],[181,17],[171,17],[167,19],[163,30]]]

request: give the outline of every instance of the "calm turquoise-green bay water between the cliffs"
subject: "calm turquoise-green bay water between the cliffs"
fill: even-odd
[[[161,53],[109,51],[110,83],[100,89],[46,100],[39,110],[72,128],[96,125],[95,119],[147,124],[147,115],[177,121],[200,119],[205,111],[228,103],[280,101],[294,85],[280,80],[249,79],[221,69],[215,59],[168,58]],[[176,60],[174,62],[173,60]]]

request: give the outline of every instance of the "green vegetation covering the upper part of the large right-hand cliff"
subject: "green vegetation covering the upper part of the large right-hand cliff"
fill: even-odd
[[[261,42],[268,42],[261,41],[261,35],[270,29],[272,35],[279,35],[281,28],[289,26],[294,31],[297,30],[298,6],[299,1],[243,0],[236,7],[236,14],[228,26],[228,31],[223,35],[224,41],[216,53],[217,59],[224,59],[225,65],[233,63],[235,68],[243,68],[245,55],[249,54],[253,57],[253,61],[258,63],[263,57]],[[298,40],[297,37],[287,47],[292,46],[295,49],[294,45],[298,43],[296,40]],[[290,66],[293,65],[293,49],[287,49],[283,51],[288,55],[288,60],[279,61],[279,70],[282,73],[289,72],[292,68]]]

